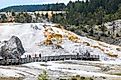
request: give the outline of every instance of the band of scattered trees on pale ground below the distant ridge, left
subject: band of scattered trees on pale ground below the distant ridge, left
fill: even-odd
[[[16,23],[39,23],[50,22],[49,14],[28,13],[28,12],[6,12],[0,15],[0,23],[16,22]]]

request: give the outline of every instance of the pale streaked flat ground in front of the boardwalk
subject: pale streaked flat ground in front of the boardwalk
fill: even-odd
[[[51,80],[69,79],[76,75],[91,77],[94,80],[121,80],[120,63],[71,60],[0,66],[0,76],[15,77],[15,80],[37,80],[38,75],[42,74],[43,70],[47,71]]]

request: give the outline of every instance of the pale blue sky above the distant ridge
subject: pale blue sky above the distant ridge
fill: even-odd
[[[0,9],[14,5],[48,4],[57,2],[67,4],[69,1],[70,0],[0,0]]]

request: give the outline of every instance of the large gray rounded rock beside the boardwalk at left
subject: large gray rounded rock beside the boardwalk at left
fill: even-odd
[[[12,36],[8,41],[4,41],[0,44],[0,56],[3,58],[20,58],[25,52],[21,40]]]

